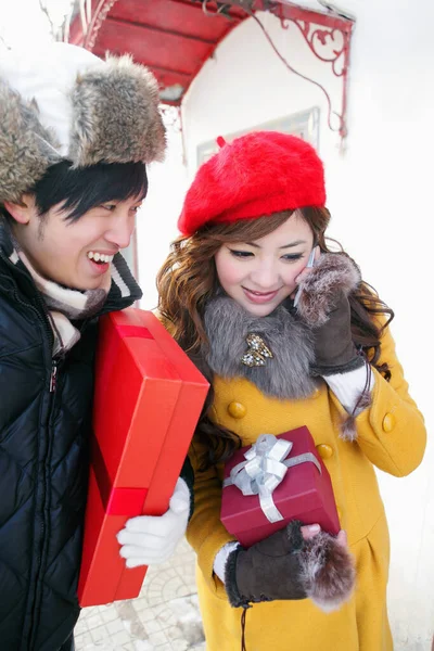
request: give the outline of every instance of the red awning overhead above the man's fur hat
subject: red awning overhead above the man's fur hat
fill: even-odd
[[[104,5],[106,10],[110,4],[113,7],[104,18]],[[100,8],[93,8],[86,37],[79,15],[75,16],[69,42],[82,44],[99,56],[104,56],[106,51],[131,53],[135,61],[149,66],[157,77],[162,100],[179,105],[218,43],[247,17],[237,7],[222,15],[217,14],[215,2],[207,4],[205,13],[200,0],[100,2]]]

